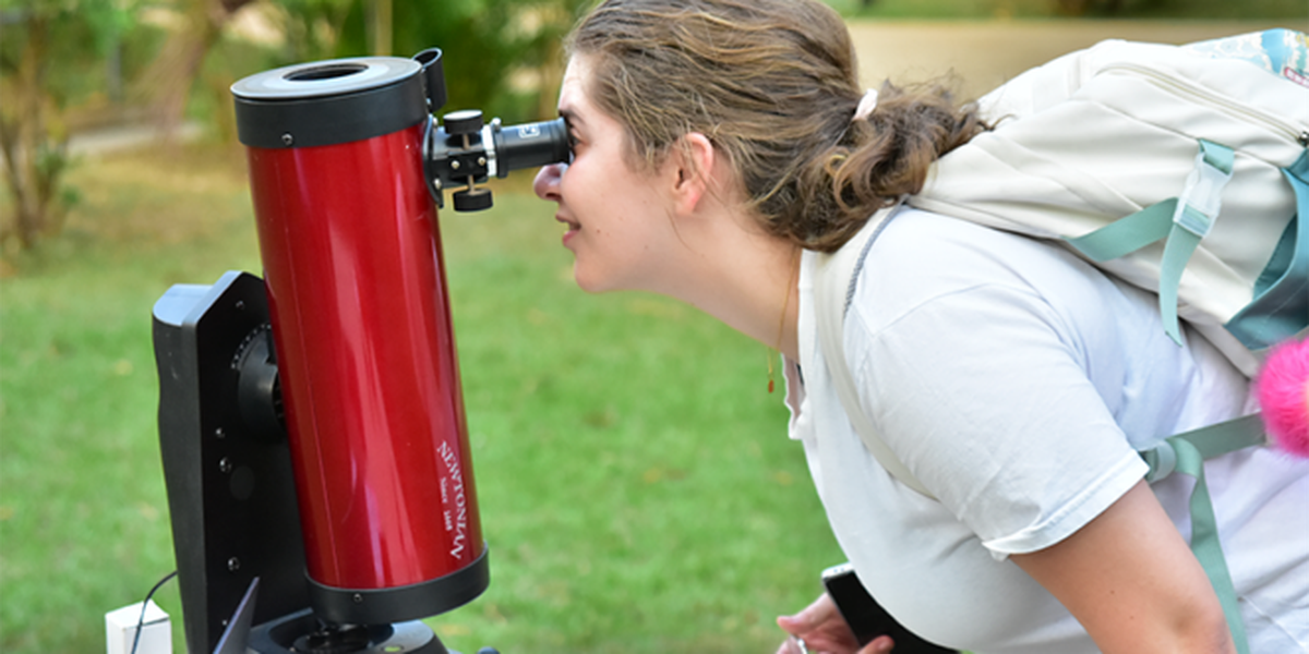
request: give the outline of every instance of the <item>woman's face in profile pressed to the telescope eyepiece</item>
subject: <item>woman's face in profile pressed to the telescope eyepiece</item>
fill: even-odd
[[[593,293],[658,290],[669,247],[678,242],[660,184],[665,170],[630,165],[623,127],[590,102],[589,78],[588,59],[575,56],[559,92],[573,158],[541,169],[533,188],[559,204],[555,220],[567,226],[563,243],[573,252],[579,286]]]

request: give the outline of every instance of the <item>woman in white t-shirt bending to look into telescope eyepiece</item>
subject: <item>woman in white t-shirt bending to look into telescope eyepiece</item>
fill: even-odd
[[[672,296],[784,354],[833,530],[911,630],[978,653],[1234,651],[1183,536],[1187,483],[1147,485],[1136,449],[1247,412],[1247,382],[1194,334],[1173,345],[1152,296],[1047,243],[901,211],[857,273],[844,349],[936,500],[864,450],[814,336],[816,252],[987,128],[936,89],[870,99],[817,1],[609,0],[569,42],[573,160],[535,191],[583,289]],[[1247,450],[1207,472],[1251,651],[1309,650],[1309,463]],[[779,625],[779,651],[857,650],[826,596]]]

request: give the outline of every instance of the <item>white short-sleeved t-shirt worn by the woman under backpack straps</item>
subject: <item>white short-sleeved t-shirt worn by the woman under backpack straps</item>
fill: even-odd
[[[1055,245],[903,211],[867,256],[844,349],[865,413],[928,500],[846,417],[816,335],[813,269],[806,252],[791,436],[860,579],[946,646],[1097,651],[1008,555],[1059,543],[1122,497],[1147,470],[1138,449],[1253,409],[1246,379],[1194,332],[1169,340],[1156,296]],[[1309,460],[1249,449],[1206,475],[1251,650],[1309,651]],[[1187,538],[1191,485],[1155,484]]]

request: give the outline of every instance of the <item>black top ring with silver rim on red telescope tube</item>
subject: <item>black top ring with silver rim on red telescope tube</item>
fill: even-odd
[[[370,56],[288,65],[232,85],[237,135],[254,148],[335,145],[429,118],[421,65]]]

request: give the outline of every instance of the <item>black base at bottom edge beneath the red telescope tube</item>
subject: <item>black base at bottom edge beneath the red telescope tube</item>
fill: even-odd
[[[416,620],[325,629],[309,610],[255,627],[247,647],[258,654],[458,654]]]

